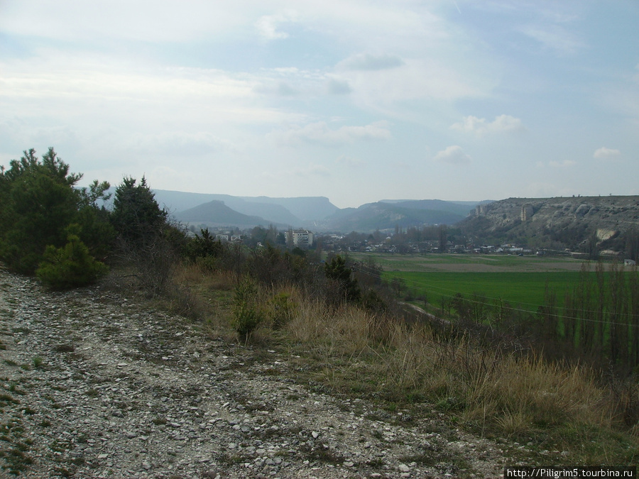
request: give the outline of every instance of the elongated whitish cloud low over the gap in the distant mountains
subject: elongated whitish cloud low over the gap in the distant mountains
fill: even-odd
[[[388,140],[391,131],[386,122],[371,123],[366,126],[342,126],[337,130],[330,129],[326,122],[309,123],[303,127],[291,128],[288,131],[274,133],[278,143],[295,145],[298,143],[319,143],[327,146],[338,146],[361,140]]]

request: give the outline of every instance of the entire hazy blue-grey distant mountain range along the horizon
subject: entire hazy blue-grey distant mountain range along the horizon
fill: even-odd
[[[239,227],[273,224],[279,229],[369,232],[430,224],[455,224],[478,204],[438,199],[383,200],[359,208],[339,209],[326,197],[234,197],[154,189],[155,199],[178,221],[197,227]]]

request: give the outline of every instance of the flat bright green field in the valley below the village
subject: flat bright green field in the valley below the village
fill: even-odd
[[[427,298],[438,305],[442,297],[461,293],[479,294],[493,303],[499,299],[536,311],[544,304],[546,283],[555,290],[559,304],[564,292],[577,284],[584,263],[572,258],[540,258],[514,255],[391,255],[354,254],[351,258],[373,258],[381,265],[383,277],[397,278],[414,297]],[[594,271],[595,265],[591,265]]]

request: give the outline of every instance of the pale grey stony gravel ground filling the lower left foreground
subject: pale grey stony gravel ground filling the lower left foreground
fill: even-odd
[[[501,477],[512,451],[296,380],[131,297],[0,270],[0,475]]]

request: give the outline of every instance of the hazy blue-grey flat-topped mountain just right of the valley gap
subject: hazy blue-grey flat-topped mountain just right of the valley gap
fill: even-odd
[[[430,204],[431,201],[436,203]],[[428,206],[434,206],[438,209],[427,208]],[[332,216],[322,221],[319,226],[326,231],[360,231],[365,233],[376,229],[392,230],[395,229],[395,226],[408,228],[429,224],[455,224],[464,219],[469,214],[469,210],[469,207],[450,202],[439,202],[439,200],[376,202],[364,204],[359,208],[336,211]]]

